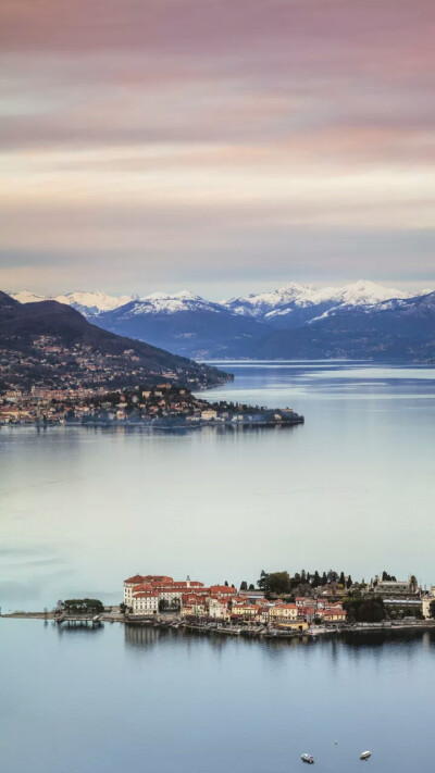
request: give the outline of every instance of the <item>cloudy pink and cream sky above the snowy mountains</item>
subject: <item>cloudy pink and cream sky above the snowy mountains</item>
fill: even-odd
[[[3,0],[0,288],[435,280],[433,0]]]

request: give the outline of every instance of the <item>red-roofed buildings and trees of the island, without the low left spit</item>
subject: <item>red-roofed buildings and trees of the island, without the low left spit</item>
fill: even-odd
[[[356,625],[417,623],[435,618],[435,586],[423,589],[414,575],[406,581],[383,572],[370,583],[355,583],[344,572],[303,570],[261,572],[257,587],[206,586],[199,581],[174,581],[166,575],[136,574],[124,581],[126,620],[152,621],[172,612],[190,625],[241,624],[264,633],[309,633]]]

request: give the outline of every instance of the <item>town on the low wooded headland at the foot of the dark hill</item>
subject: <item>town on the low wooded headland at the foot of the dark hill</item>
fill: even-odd
[[[139,425],[156,429],[293,426],[303,416],[226,400],[208,402],[170,382],[125,389],[9,389],[0,395],[0,426]]]

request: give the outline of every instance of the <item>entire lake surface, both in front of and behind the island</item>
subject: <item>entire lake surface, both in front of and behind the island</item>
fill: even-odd
[[[231,365],[215,396],[290,431],[0,431],[0,604],[121,599],[133,572],[382,569],[435,583],[435,370]],[[0,620],[0,760],[14,773],[432,770],[435,639],[308,645]],[[335,745],[335,741],[338,741]],[[359,761],[363,749],[373,751]]]

